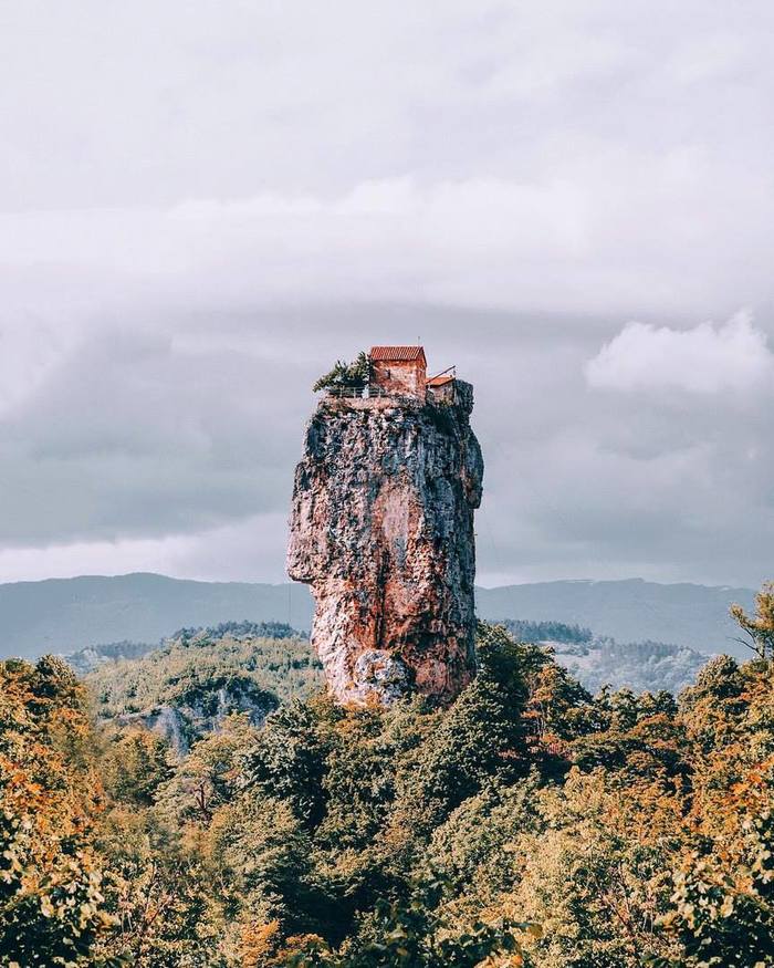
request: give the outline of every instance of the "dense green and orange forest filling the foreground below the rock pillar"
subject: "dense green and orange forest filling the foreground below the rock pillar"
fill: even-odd
[[[750,660],[677,699],[592,696],[482,624],[450,707],[348,709],[265,639],[255,687],[295,685],[185,752],[105,715],[101,673],[6,660],[0,964],[774,965],[774,590],[735,617]],[[170,701],[206,686],[199,635],[169,647]],[[233,643],[234,676],[265,665]]]

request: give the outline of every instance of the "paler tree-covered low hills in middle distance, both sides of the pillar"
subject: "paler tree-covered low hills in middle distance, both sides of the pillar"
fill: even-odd
[[[503,625],[517,642],[550,646],[556,662],[595,694],[607,685],[677,695],[708,659],[683,646],[620,643],[561,622],[503,618],[494,624]],[[98,715],[107,717],[178,706],[187,690],[211,697],[220,685],[238,679],[269,689],[282,700],[305,698],[324,681],[308,636],[276,622],[181,628],[160,645],[107,643],[66,659],[86,677],[97,696]]]

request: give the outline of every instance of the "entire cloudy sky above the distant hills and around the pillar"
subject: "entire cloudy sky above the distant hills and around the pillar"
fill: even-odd
[[[1,0],[0,581],[281,581],[336,357],[475,384],[483,584],[774,577],[768,0]]]

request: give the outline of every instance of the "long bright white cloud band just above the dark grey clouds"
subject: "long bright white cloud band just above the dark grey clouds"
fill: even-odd
[[[348,300],[724,311],[739,291],[761,304],[771,293],[771,199],[753,173],[742,190],[700,149],[579,144],[525,179],[400,176],[332,196],[0,214],[0,302],[18,326],[44,314],[90,327],[146,311]],[[747,254],[718,271],[729,238]]]

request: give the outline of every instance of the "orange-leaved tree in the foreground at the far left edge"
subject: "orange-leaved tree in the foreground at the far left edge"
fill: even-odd
[[[62,659],[0,663],[0,965],[98,964],[111,917],[92,845],[102,793],[86,709]]]

